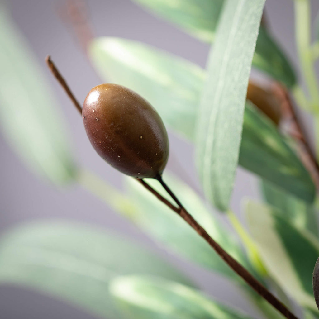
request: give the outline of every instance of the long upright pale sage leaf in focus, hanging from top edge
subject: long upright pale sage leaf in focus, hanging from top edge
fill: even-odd
[[[197,168],[207,198],[228,208],[239,156],[247,85],[264,0],[228,0],[208,57],[201,97]]]

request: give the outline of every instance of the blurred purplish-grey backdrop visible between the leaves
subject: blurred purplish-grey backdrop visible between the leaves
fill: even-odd
[[[121,174],[108,167],[93,151],[83,129],[82,121],[70,101],[50,76],[43,63],[44,57],[52,58],[63,71],[78,100],[83,101],[88,91],[100,83],[78,44],[58,18],[56,9],[63,4],[54,0],[10,0],[13,18],[28,39],[43,71],[52,84],[52,91],[63,108],[65,122],[69,125],[70,140],[78,161],[102,178],[121,187]],[[147,13],[129,0],[89,1],[89,12],[97,35],[125,37],[143,41],[155,47],[180,55],[190,61],[205,65],[209,46],[175,28],[173,25]],[[319,9],[313,2],[313,18]],[[293,64],[297,64],[294,43],[293,1],[267,0],[267,20],[275,37],[281,42]],[[199,188],[193,163],[193,147],[170,135],[171,159],[169,168],[179,175],[187,171],[184,179]],[[19,223],[33,219],[67,218],[116,230],[133,237],[159,255],[170,260],[183,272],[195,279],[204,291],[216,299],[224,300],[259,317],[252,306],[226,280],[204,271],[166,253],[127,220],[110,211],[102,202],[78,186],[56,189],[38,179],[16,157],[0,135],[0,234]],[[240,215],[243,196],[258,197],[257,180],[238,169],[232,208]],[[95,318],[63,301],[36,292],[11,286],[0,287],[0,318]]]

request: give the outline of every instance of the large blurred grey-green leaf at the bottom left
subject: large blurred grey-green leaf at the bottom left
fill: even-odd
[[[189,284],[152,252],[93,227],[38,222],[0,240],[0,283],[37,288],[104,318],[119,318],[109,281],[134,273]]]

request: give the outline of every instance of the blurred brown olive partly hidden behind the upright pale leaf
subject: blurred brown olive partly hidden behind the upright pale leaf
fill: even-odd
[[[278,125],[281,117],[280,101],[271,90],[263,89],[256,83],[249,81],[247,100],[250,100],[276,125]]]

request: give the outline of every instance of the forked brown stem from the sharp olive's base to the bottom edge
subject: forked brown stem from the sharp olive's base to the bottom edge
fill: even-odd
[[[167,193],[174,199],[179,208],[171,204],[166,198],[160,195],[155,189],[147,184],[142,179],[138,181],[148,189],[153,195],[155,195],[160,201],[166,204],[169,208],[175,211],[179,216],[182,217],[204,240],[216,251],[216,253],[228,264],[228,266],[235,271],[246,283],[253,288],[256,293],[267,300],[274,308],[276,308],[282,315],[288,319],[297,319],[295,315],[282,303],[280,302],[265,286],[263,286],[254,276],[252,276],[247,269],[245,269],[240,263],[238,263],[232,256],[230,256],[219,244],[214,241],[211,236],[200,226],[197,221],[189,214],[189,212],[182,206],[181,202],[174,195],[172,190],[162,180],[161,176],[156,177],[161,183]]]

